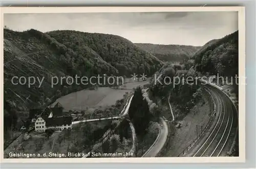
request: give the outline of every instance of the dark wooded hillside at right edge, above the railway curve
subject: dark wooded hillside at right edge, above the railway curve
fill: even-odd
[[[229,79],[238,75],[238,31],[206,43],[191,58],[195,61],[196,70],[201,73],[219,73],[219,76]],[[234,81],[233,89],[238,95],[238,86]]]

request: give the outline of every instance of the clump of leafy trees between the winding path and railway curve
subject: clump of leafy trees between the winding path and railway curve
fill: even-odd
[[[170,96],[176,118],[182,119],[197,104],[202,95],[202,89],[196,85],[196,81],[191,85],[183,83],[182,79],[187,77],[196,79],[198,75],[198,72],[186,63],[167,63],[157,72],[157,78],[152,78],[150,83],[152,97],[168,103]]]

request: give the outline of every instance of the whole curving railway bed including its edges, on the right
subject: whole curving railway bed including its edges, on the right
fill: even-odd
[[[202,139],[198,140],[186,156],[218,157],[225,156],[237,132],[237,109],[220,88],[205,85],[216,102],[216,117],[212,125],[204,132]]]

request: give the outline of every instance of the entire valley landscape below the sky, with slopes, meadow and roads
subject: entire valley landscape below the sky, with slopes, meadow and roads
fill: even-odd
[[[208,90],[202,85],[188,85],[184,80],[174,87],[172,84],[177,81],[171,81],[215,74],[234,77],[238,73],[237,36],[238,32],[234,32],[204,46],[185,46],[139,44],[116,35],[79,31],[42,33],[34,29],[24,32],[5,29],[5,157],[8,158],[8,152],[12,151],[127,151],[132,152],[130,157],[181,157],[194,156],[202,145],[212,145],[209,149],[207,147],[205,156],[214,154],[212,150],[219,145],[221,149],[214,156],[226,156],[223,151],[228,151],[230,156],[237,155],[235,128],[238,124],[237,118],[233,117],[236,110],[229,96],[219,94],[215,100],[211,98],[212,91],[220,93],[222,90],[211,87],[216,79]],[[138,75],[136,80],[133,79],[135,74]],[[146,79],[141,79],[142,74]],[[13,84],[14,75],[45,80],[34,80],[29,86]],[[51,81],[53,77],[73,78],[77,75],[121,76],[125,80],[122,84],[105,85],[96,80],[87,85],[69,81],[53,85]],[[161,75],[161,84],[154,81],[155,75]],[[169,79],[167,84],[166,79]],[[228,86],[224,82],[220,86],[223,85],[229,89],[228,95],[238,100],[238,85]],[[214,102],[219,99],[224,101],[218,103],[218,107],[223,108],[217,108],[217,115],[223,114],[222,109],[232,115],[232,120],[223,118],[222,123],[228,126],[226,129],[220,125],[223,136],[222,132],[211,127],[216,121]],[[61,115],[55,115],[54,109],[58,108]],[[35,115],[36,118],[31,118],[30,111],[37,109],[43,110]],[[46,114],[46,110],[51,111],[51,115]],[[46,123],[51,118],[66,117],[70,122],[62,121],[63,124],[58,123],[55,128],[46,125],[42,127],[45,133],[40,133],[36,123],[41,117]],[[66,123],[69,129],[65,128]],[[20,132],[23,127],[26,129]],[[58,131],[48,133],[50,128],[58,128]],[[207,142],[211,135],[204,131],[220,135],[212,144]],[[230,132],[227,134],[226,131]],[[22,135],[12,134],[14,132]]]

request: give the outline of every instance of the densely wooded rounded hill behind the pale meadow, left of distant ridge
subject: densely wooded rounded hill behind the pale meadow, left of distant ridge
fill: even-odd
[[[153,74],[161,67],[161,61],[154,55],[120,36],[78,31],[53,31],[47,34],[72,48],[77,55],[90,58],[90,53],[97,53],[99,58],[118,70],[118,75],[130,76],[134,72]]]

